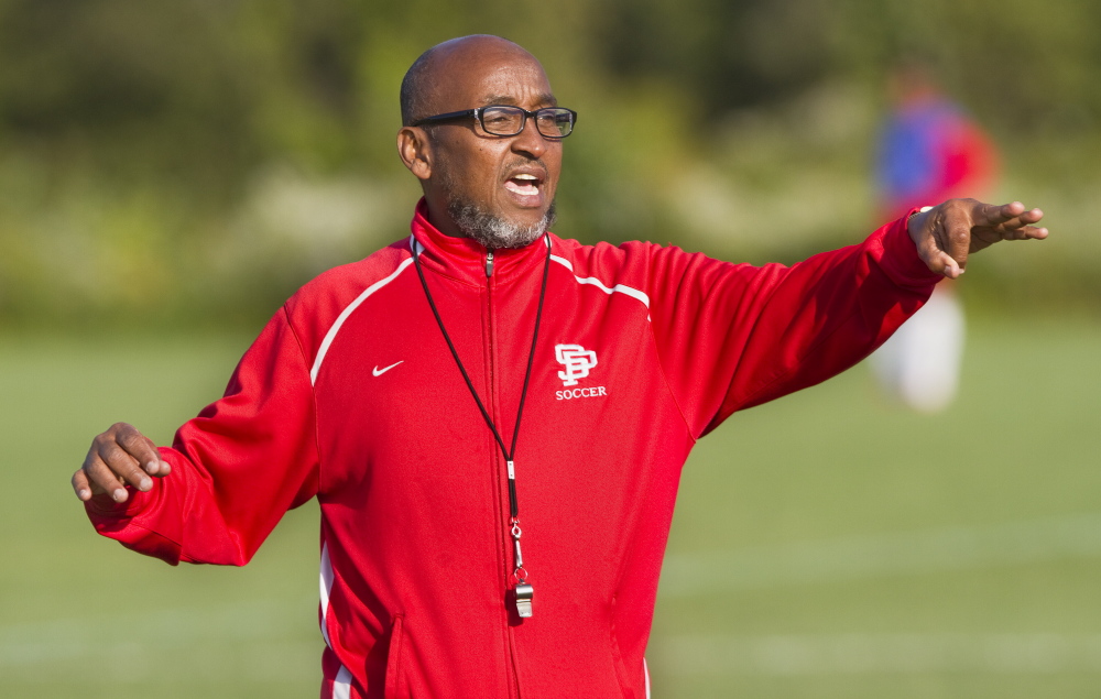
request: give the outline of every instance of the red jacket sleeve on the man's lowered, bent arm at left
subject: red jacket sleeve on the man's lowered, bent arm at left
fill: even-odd
[[[128,488],[116,504],[86,503],[96,529],[172,565],[242,566],[283,513],[317,492],[318,450],[309,368],[280,310],[249,348],[225,396],[176,433],[161,457],[172,472]]]

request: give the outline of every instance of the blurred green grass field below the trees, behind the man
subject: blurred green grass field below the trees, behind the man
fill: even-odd
[[[1095,697],[1101,324],[971,328],[918,416],[860,367],[735,415],[685,468],[655,697]],[[68,488],[111,422],[154,439],[247,340],[0,340],[0,696],[312,697],[316,507],[243,569],[97,537]]]

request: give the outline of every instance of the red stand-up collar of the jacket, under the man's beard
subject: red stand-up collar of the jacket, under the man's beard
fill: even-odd
[[[428,222],[428,205],[422,198],[410,223],[413,237],[421,243],[421,264],[467,284],[483,286],[487,282],[487,249],[470,238],[454,238],[439,232]],[[550,234],[554,245],[554,234]],[[414,251],[415,252],[415,251]],[[547,249],[543,238],[514,250],[493,251],[493,278],[501,284],[541,272]]]

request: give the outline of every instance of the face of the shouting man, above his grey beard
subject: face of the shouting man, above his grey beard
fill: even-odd
[[[440,59],[432,113],[490,105],[530,111],[556,106],[546,74],[530,54],[500,41],[471,44]],[[534,231],[553,216],[548,212],[562,171],[562,141],[544,138],[534,120],[528,119],[514,136],[488,134],[477,119],[427,130],[432,143],[430,175],[425,182],[429,210],[437,216],[448,211],[449,222],[456,223],[461,234],[481,240],[462,229],[471,221],[491,219]],[[468,216],[464,226],[460,210],[468,215],[477,211],[481,219]],[[530,238],[519,243],[526,244]],[[505,247],[501,241],[494,244]]]

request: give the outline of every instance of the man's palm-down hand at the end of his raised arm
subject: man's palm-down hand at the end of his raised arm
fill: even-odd
[[[1025,210],[1020,201],[998,205],[949,199],[914,215],[907,227],[925,264],[937,274],[955,280],[967,269],[969,253],[1000,240],[1047,238],[1047,229],[1035,226],[1042,218],[1043,211]]]

